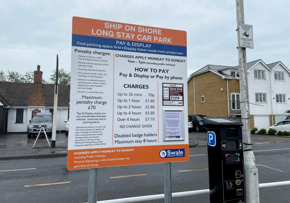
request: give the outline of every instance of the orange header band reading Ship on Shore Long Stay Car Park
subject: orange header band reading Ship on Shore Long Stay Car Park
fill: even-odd
[[[73,17],[72,34],[186,47],[186,32]]]

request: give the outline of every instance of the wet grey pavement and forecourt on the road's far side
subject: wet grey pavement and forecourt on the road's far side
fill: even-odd
[[[49,147],[45,136],[27,138],[27,134],[0,135],[0,160],[43,159],[67,156],[68,136],[56,134],[55,147]],[[51,145],[51,137],[48,137]],[[290,142],[290,136],[251,135],[252,144]],[[188,135],[189,148],[206,147],[206,132],[191,132]],[[35,146],[33,147],[33,145]]]

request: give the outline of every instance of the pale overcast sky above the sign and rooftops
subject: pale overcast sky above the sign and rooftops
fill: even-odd
[[[41,66],[48,80],[56,68],[70,72],[72,17],[93,18],[187,32],[188,76],[206,66],[237,66],[235,0],[0,0],[0,70],[25,74]],[[282,61],[290,69],[290,1],[244,0],[253,25],[247,62]]]

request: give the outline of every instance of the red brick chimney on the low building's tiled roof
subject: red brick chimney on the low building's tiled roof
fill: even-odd
[[[41,92],[42,88],[42,71],[40,65],[34,71],[33,92],[28,96],[28,106],[45,106],[45,95]]]

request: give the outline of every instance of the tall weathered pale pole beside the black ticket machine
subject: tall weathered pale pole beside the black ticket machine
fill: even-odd
[[[244,24],[244,2],[236,0],[237,9],[237,28],[239,24]],[[239,31],[237,32],[239,42]],[[259,179],[256,160],[252,150],[251,129],[250,129],[250,109],[249,109],[249,92],[247,79],[247,57],[246,48],[238,47],[239,69],[240,69],[240,106],[243,120],[243,154],[246,183],[246,200],[247,203],[259,203]]]

